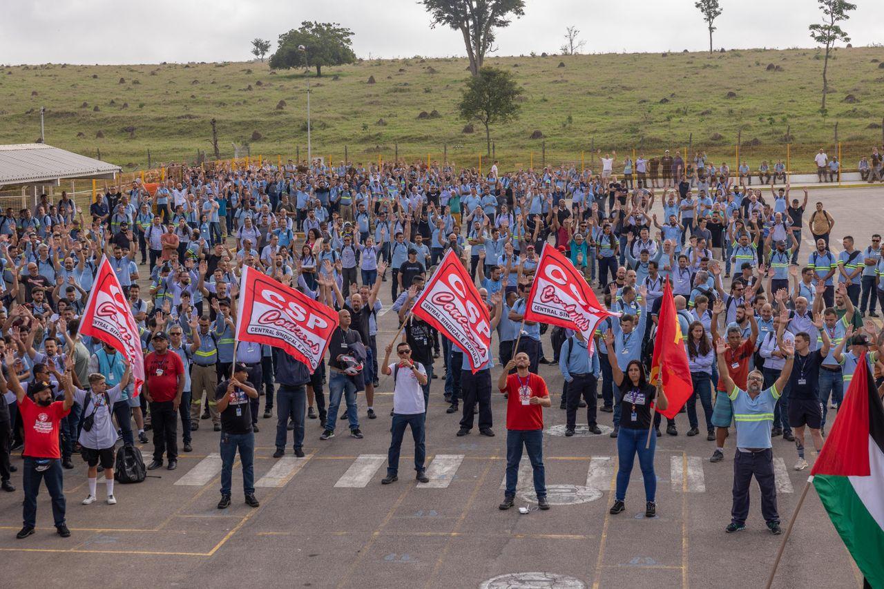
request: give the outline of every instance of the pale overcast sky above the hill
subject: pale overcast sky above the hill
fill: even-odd
[[[884,4],[854,0],[844,28],[854,45],[882,42]],[[465,55],[461,34],[430,28],[415,0],[9,0],[0,19],[5,64],[139,64],[242,61],[255,37],[276,48],[301,20],[335,21],[354,32],[359,57]],[[565,27],[585,52],[704,50],[693,0],[526,0],[525,15],[498,35],[498,55],[557,51]],[[809,47],[815,0],[720,0],[716,48]],[[617,10],[613,10],[616,6]]]

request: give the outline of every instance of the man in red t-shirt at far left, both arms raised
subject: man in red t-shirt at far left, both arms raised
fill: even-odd
[[[11,348],[6,348],[4,360],[6,368],[0,370],[0,389],[4,392],[10,390],[19,400],[19,414],[25,430],[24,525],[15,537],[24,539],[34,533],[37,524],[37,493],[40,491],[40,481],[43,480],[52,498],[52,517],[58,535],[67,538],[71,531],[65,524],[65,493],[62,487],[58,428],[61,420],[71,412],[72,389],[69,390],[64,382],[60,382],[59,385],[65,389],[65,401],[53,402],[50,383],[35,383],[34,401],[31,401],[15,373],[15,354]],[[71,378],[71,368],[71,361],[65,363],[65,375],[60,380]]]

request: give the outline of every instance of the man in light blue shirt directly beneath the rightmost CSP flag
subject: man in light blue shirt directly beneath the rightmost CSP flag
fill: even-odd
[[[586,422],[591,433],[602,431],[596,424],[596,399],[598,394],[598,375],[601,367],[598,362],[598,351],[590,354],[583,333],[576,332],[565,340],[559,354],[559,370],[565,378],[565,396],[568,399],[565,414],[565,436],[574,435],[577,420],[577,406],[581,398],[586,402]]]

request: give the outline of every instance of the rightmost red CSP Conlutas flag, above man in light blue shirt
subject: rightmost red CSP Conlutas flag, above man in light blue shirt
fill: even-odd
[[[590,342],[596,324],[617,315],[598,302],[592,287],[580,272],[552,245],[546,244],[537,264],[534,284],[528,295],[524,317],[527,321],[559,325],[583,333]]]

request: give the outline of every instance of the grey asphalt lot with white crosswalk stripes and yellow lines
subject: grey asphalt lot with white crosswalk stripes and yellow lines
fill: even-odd
[[[880,188],[815,190],[810,208],[817,199],[835,218],[833,237],[838,240],[833,245],[851,233],[857,248],[865,248],[869,235],[884,226]],[[804,260],[807,242],[802,249]],[[390,304],[386,286],[385,308]],[[378,346],[383,348],[395,333],[396,318],[384,313],[379,321]],[[496,348],[496,342],[492,345]],[[545,355],[552,357],[548,339]],[[493,371],[495,379],[498,370]],[[443,372],[441,360],[436,372]],[[14,538],[21,526],[19,468],[12,479],[19,492],[0,495],[4,587],[96,582],[193,587],[764,586],[781,537],[766,531],[757,487],[747,530],[724,533],[730,521],[733,437],[726,459],[709,463],[713,442],[703,436],[686,438],[687,418],[680,415],[680,435],[664,434],[658,440],[658,516],[644,517],[637,465],[626,511],[610,516],[617,470],[614,440],[585,431],[564,438],[560,373],[555,366],[541,366],[540,373],[553,397],[552,408],[545,409],[549,511],[522,515],[516,509],[497,509],[506,465],[506,401],[499,394],[492,400],[496,437],[480,436],[476,429],[456,437],[459,415],[446,414],[441,379],[432,381],[427,417],[431,482],[415,483],[407,435],[400,480],[382,486],[392,408],[392,379],[382,379],[375,400],[377,419],[365,419],[364,398],[359,398],[364,440],[348,437],[339,425],[335,438],[320,441],[318,421],[309,420],[307,455],[295,458],[289,443],[286,457],[274,459],[276,420],[260,420],[261,432],[255,434],[257,509],[242,501],[238,467],[232,506],[216,509],[218,434],[206,427],[194,432],[194,452],[180,455],[178,470],[154,470],[149,474],[156,478],[118,485],[115,506],[103,503],[101,481],[100,501],[80,505],[87,493],[86,469],[75,460],[77,469],[65,471],[72,531],[68,539],[55,534],[45,488],[38,501],[37,533]],[[610,414],[599,415],[600,425],[611,424]],[[577,423],[585,425],[585,419],[585,413],[578,414]],[[773,448],[785,527],[809,470],[791,469],[794,445],[775,439]],[[152,444],[141,449],[149,458]],[[18,453],[13,463],[20,467]],[[522,472],[527,475],[530,467]],[[531,507],[535,503],[526,475],[520,475],[516,503]],[[854,587],[861,580],[811,490],[774,586]]]

